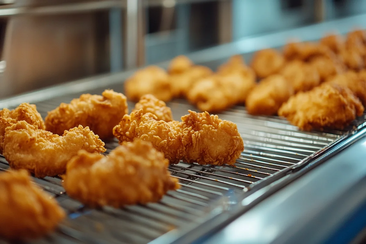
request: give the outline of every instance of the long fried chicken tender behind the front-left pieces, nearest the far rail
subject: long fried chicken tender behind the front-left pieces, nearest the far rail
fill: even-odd
[[[112,138],[113,127],[127,113],[127,98],[122,93],[105,90],[102,95],[82,94],[70,104],[61,103],[48,112],[46,130],[62,135],[64,131],[82,125],[102,139]]]

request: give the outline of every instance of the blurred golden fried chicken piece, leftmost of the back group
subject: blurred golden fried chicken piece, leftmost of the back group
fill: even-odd
[[[169,75],[164,69],[155,65],[135,72],[124,82],[124,91],[127,98],[135,102],[146,94],[153,94],[165,102],[173,97]]]

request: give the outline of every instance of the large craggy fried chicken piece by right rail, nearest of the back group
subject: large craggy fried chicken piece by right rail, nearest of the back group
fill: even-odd
[[[346,87],[323,84],[291,97],[279,109],[279,115],[303,131],[312,129],[343,129],[364,108]]]

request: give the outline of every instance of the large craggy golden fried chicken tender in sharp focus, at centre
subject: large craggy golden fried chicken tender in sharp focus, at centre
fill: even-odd
[[[152,142],[171,164],[180,160],[203,165],[234,164],[244,150],[236,124],[208,112],[188,112],[181,122],[165,122],[140,109],[123,116],[113,134],[120,144],[135,138]]]

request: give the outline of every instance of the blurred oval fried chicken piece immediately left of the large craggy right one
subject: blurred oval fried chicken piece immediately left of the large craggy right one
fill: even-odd
[[[282,75],[271,75],[254,87],[246,100],[251,115],[275,115],[280,106],[294,94],[294,88]]]

